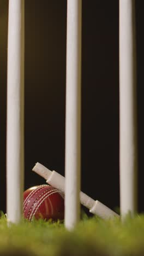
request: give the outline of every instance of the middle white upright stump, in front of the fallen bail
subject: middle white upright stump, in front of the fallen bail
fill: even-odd
[[[81,0],[67,1],[67,86],[65,124],[65,227],[80,218]]]

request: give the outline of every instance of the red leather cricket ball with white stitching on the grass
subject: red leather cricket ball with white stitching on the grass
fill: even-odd
[[[23,215],[35,219],[64,219],[64,196],[50,185],[37,185],[23,193]]]

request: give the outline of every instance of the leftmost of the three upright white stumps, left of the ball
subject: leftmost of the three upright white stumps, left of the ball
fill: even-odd
[[[7,88],[7,216],[22,217],[24,172],[24,0],[9,0]]]

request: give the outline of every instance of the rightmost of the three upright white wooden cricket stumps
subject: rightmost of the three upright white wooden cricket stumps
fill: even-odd
[[[136,211],[135,1],[119,0],[119,103],[121,214]]]

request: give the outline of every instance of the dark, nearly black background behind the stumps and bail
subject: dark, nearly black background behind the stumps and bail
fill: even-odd
[[[139,211],[143,202],[143,7],[136,1]],[[82,0],[82,190],[119,206],[118,0]],[[64,175],[66,0],[25,0],[25,188]],[[5,210],[8,1],[0,0],[0,210]]]

